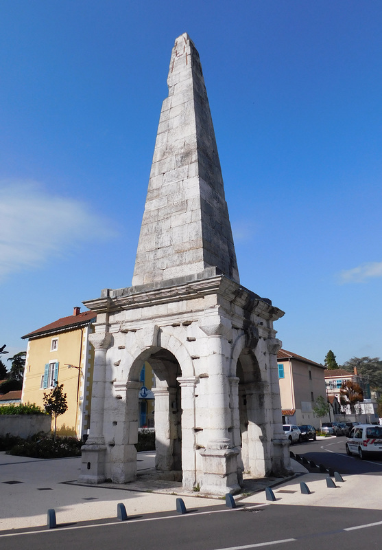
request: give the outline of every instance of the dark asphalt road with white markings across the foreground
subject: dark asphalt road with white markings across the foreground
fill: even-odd
[[[239,550],[270,545],[286,550],[359,550],[367,540],[369,550],[380,548],[381,534],[379,510],[261,505],[13,533],[0,536],[0,545],[2,550]]]

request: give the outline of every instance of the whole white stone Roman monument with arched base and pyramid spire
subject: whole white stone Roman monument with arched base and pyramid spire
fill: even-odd
[[[239,283],[200,58],[176,39],[132,286],[84,304],[97,314],[91,428],[80,481],[136,479],[139,374],[156,375],[156,469],[224,495],[290,472],[278,388],[283,311]],[[164,474],[163,474],[164,475]]]

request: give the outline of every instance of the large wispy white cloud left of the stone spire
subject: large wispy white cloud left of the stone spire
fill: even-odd
[[[0,280],[112,234],[110,222],[85,203],[51,195],[34,181],[0,181]]]

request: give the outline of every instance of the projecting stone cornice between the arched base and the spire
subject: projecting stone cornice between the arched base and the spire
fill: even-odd
[[[247,311],[248,314],[255,314],[266,320],[274,321],[284,315],[284,311],[274,307],[270,300],[261,298],[224,275],[185,281],[176,285],[169,284],[169,286],[154,289],[147,289],[147,285],[145,288],[106,289],[102,294],[101,298],[86,300],[84,305],[97,313],[112,313],[121,309],[152,307],[216,294],[217,305],[221,297]]]

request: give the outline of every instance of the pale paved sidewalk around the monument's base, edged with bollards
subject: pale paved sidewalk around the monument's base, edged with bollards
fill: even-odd
[[[181,496],[187,509],[201,509],[223,504],[221,499],[184,494],[180,483],[156,481],[142,474],[150,472],[154,453],[139,453],[139,481],[126,485],[78,485],[80,458],[40,460],[0,453],[0,531],[44,526],[47,510],[54,508],[58,524],[116,518],[117,503],[126,506],[128,516],[176,509]],[[264,479],[252,482],[249,496],[239,496],[245,505],[270,504],[265,487],[273,485],[273,505],[311,505],[382,509],[382,476],[357,475],[336,482],[336,489],[326,487],[328,474],[309,474],[292,460],[296,477],[289,481]],[[311,490],[301,494],[300,482]],[[276,484],[276,485],[275,485]]]

